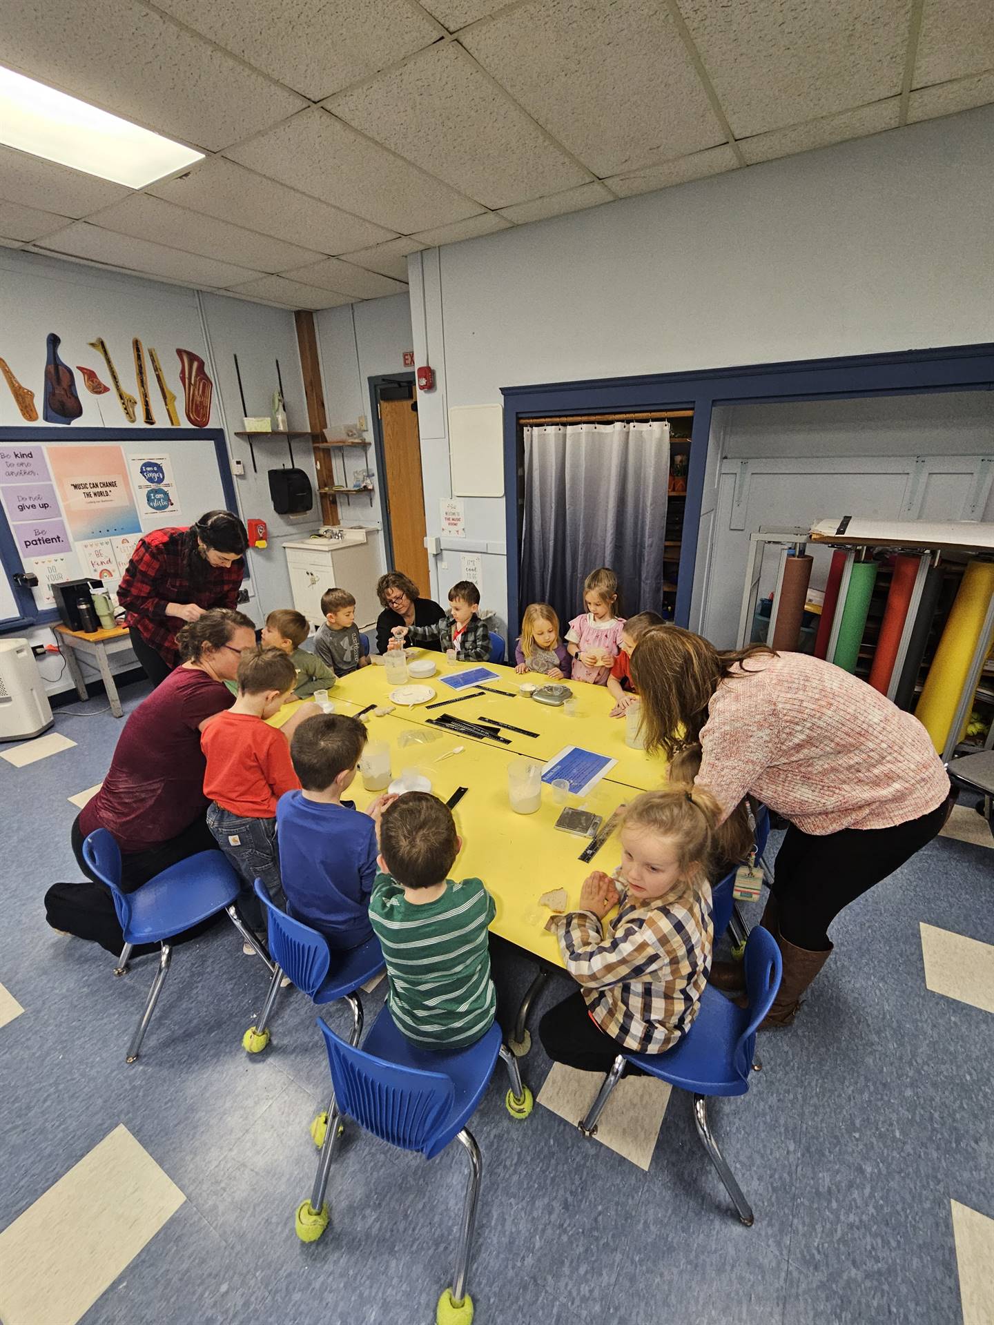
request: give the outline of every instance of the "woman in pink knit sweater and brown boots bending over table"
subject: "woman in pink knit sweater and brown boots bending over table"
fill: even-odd
[[[753,795],[790,820],[761,921],[783,957],[763,1026],[789,1026],[832,951],[832,920],[945,823],[942,761],[917,718],[803,653],[765,645],[720,653],[700,635],[663,625],[641,636],[631,673],[647,750],[672,759],[700,742],[696,780],[725,818]],[[716,963],[712,982],[741,988],[741,965]]]

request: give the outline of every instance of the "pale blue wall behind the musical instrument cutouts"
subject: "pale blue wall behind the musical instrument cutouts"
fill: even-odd
[[[0,356],[7,359],[17,378],[36,392],[34,404],[40,415],[41,368],[49,331],[56,331],[62,338],[60,354],[70,367],[76,368],[80,362],[91,364],[106,382],[107,374],[102,358],[87,346],[89,341],[103,337],[114,356],[122,386],[133,394],[131,338],[140,337],[146,348],[150,344],[155,346],[170,384],[176,391],[180,419],[183,407],[175,347],[183,346],[204,358],[215,384],[211,427],[223,428],[228,437],[229,453],[245,461],[245,477],[235,480],[240,513],[243,517],[258,515],[269,521],[269,547],[249,554],[250,598],[245,611],[256,619],[262,619],[272,608],[288,606],[289,576],[280,539],[315,529],[319,523],[319,510],[315,505],[311,514],[292,519],[273,513],[265,470],[285,462],[286,447],[282,443],[257,444],[260,472],[257,476],[253,474],[248,445],[233,437],[233,432],[243,428],[243,408],[232,355],[239,354],[247,404],[252,413],[269,412],[269,398],[276,386],[274,359],[278,356],[289,424],[292,428],[306,428],[306,403],[293,314],[244,299],[200,294],[178,285],[106,272],[85,264],[0,249]],[[93,428],[130,427],[113,391],[103,396],[93,396],[83,390],[80,374],[76,376],[83,407],[80,424]],[[159,405],[158,388],[154,382],[150,386],[156,421],[162,421],[164,411]],[[25,425],[4,382],[0,382],[0,425],[44,425],[41,419],[37,424]],[[69,436],[76,425],[50,427]],[[315,482],[313,452],[306,441],[294,448],[294,457]],[[190,511],[184,506],[184,518],[195,518],[199,514],[201,511]],[[32,643],[48,643],[52,632],[46,628],[36,629],[30,632],[30,639]],[[114,662],[118,672],[135,665],[129,653],[118,655]],[[58,666],[57,660],[46,659],[41,662],[46,686],[53,694],[72,689],[66,672],[57,674]],[[93,676],[95,677],[95,672]]]

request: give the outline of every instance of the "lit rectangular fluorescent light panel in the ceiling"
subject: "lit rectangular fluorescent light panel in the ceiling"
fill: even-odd
[[[204,156],[4,68],[0,143],[129,188],[144,188]]]

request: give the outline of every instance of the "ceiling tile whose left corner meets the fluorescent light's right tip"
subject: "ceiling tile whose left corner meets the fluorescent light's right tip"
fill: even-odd
[[[319,106],[225,156],[406,235],[481,211],[478,203],[371,143]]]

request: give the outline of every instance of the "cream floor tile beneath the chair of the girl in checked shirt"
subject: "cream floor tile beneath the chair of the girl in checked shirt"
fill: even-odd
[[[599,1072],[578,1072],[554,1063],[538,1092],[538,1102],[567,1122],[577,1124],[594,1102],[603,1081]],[[655,1077],[624,1077],[600,1114],[595,1140],[648,1171],[669,1092],[671,1086]],[[577,1140],[583,1140],[579,1133]]]

